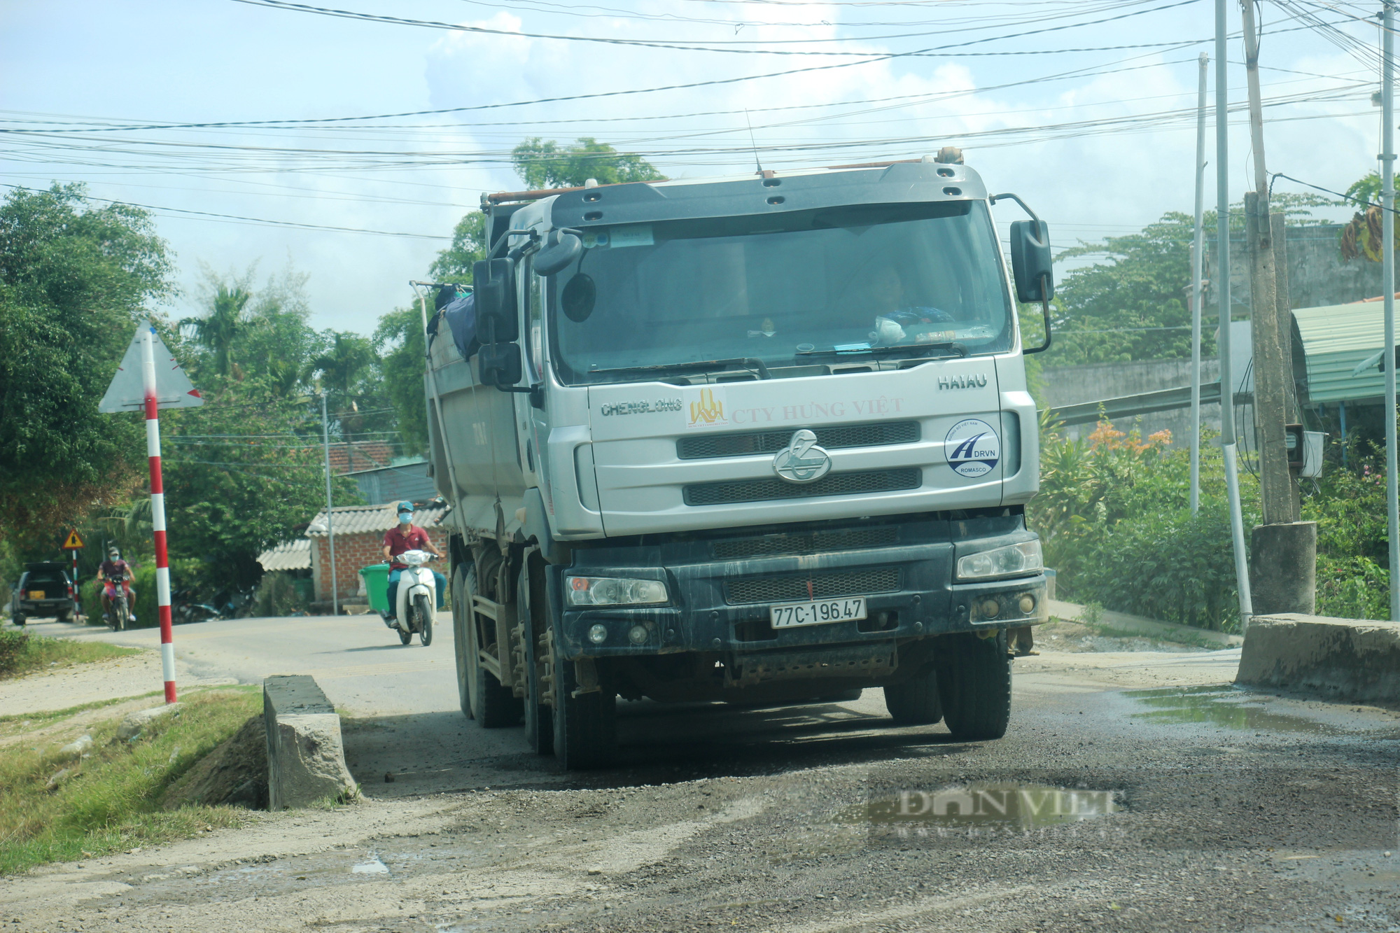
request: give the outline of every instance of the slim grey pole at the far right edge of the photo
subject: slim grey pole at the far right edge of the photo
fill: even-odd
[[[1380,15],[1380,262],[1385,277],[1385,353],[1396,345],[1394,0]],[[1390,538],[1390,621],[1400,622],[1400,500],[1396,488],[1396,367],[1386,366],[1386,532]]]

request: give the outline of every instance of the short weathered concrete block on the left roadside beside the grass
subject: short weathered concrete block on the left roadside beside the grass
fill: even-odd
[[[340,717],[315,678],[280,674],[263,681],[267,726],[267,808],[305,807],[354,793],[340,741]]]

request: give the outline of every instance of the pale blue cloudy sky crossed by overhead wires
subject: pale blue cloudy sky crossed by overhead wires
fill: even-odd
[[[263,279],[290,263],[308,276],[316,326],[370,332],[379,314],[406,301],[406,282],[426,273],[445,244],[438,238],[482,192],[519,186],[505,156],[526,136],[594,136],[647,154],[671,177],[750,171],[750,123],[766,168],[906,158],[960,144],[991,189],[1015,191],[1036,207],[1056,245],[1127,233],[1165,210],[1191,209],[1196,57],[1214,53],[1210,43],[1186,45],[1214,34],[1208,0],[325,6],[514,35],[235,0],[0,0],[0,126],[46,130],[6,134],[0,182],[83,181],[94,196],[161,207],[158,231],[175,251],[183,287],[172,314],[197,310],[203,266],[242,272],[258,263]],[[1375,167],[1379,150],[1379,109],[1368,99],[1378,87],[1373,56],[1357,48],[1375,48],[1378,35],[1355,21],[1369,7],[1330,6],[1263,4],[1266,146],[1271,171],[1344,189]],[[1238,4],[1228,7],[1238,31]],[[1338,24],[1355,45],[1299,28],[1306,24],[1291,10]],[[939,56],[864,57],[952,43],[972,45]],[[1242,43],[1229,46],[1231,99],[1243,101]],[[480,108],[832,64],[846,67],[379,120],[122,127]],[[1253,182],[1243,115],[1235,122],[1229,177],[1238,199]],[[1214,129],[1207,156],[1214,160]],[[1210,203],[1212,178],[1207,192]],[[998,217],[1014,220],[1014,212],[998,207]]]

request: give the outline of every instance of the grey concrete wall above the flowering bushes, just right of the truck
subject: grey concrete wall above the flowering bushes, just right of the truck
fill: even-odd
[[[1219,378],[1219,360],[1201,360],[1201,382]],[[1095,366],[1060,366],[1042,371],[1043,394],[1051,408],[1096,402],[1105,398],[1155,392],[1191,384],[1190,360],[1140,360],[1135,363],[1099,363]],[[1214,430],[1221,426],[1221,406],[1201,405],[1201,423]],[[1189,447],[1191,437],[1191,409],[1141,415],[1131,422],[1114,423],[1119,430],[1142,433],[1172,431],[1173,447]],[[1093,424],[1075,424],[1063,434],[1079,438],[1093,431]]]

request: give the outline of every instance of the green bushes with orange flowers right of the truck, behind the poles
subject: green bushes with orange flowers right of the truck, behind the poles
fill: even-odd
[[[1235,632],[1239,593],[1225,500],[1225,465],[1203,436],[1201,506],[1190,510],[1190,452],[1170,437],[1120,431],[1107,420],[1079,440],[1043,426],[1040,493],[1026,509],[1057,595],[1179,625]],[[1327,448],[1306,483],[1303,521],[1317,523],[1317,614],[1389,616],[1385,452],[1352,438]],[[1240,471],[1245,527],[1260,523],[1259,482]],[[1246,545],[1247,545],[1246,535]]]

